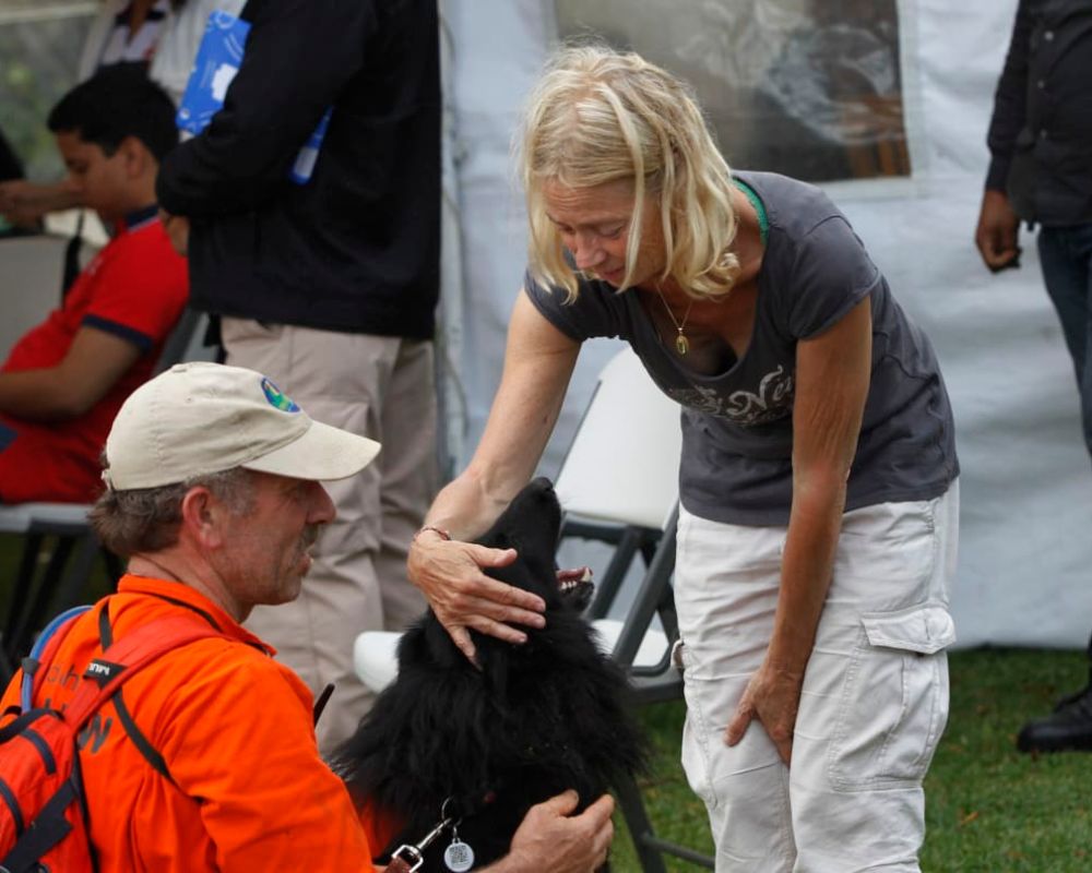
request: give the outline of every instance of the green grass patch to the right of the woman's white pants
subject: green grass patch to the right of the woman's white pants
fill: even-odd
[[[951,656],[951,718],[926,781],[924,870],[1092,870],[1092,756],[1014,745],[1020,726],[1082,687],[1088,669],[1080,651]]]

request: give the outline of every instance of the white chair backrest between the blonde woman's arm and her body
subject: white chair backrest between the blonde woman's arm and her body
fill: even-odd
[[[678,500],[679,405],[628,346],[600,373],[557,477],[567,513],[662,528]]]

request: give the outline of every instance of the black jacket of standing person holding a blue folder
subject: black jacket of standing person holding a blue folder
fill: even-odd
[[[436,0],[250,0],[224,108],[164,160],[190,218],[191,302],[321,330],[430,338],[439,294]],[[289,167],[333,115],[310,181]]]

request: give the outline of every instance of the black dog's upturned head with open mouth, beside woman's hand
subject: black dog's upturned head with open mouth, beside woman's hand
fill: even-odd
[[[549,479],[539,477],[515,495],[494,526],[477,541],[492,549],[515,549],[508,566],[486,570],[495,579],[538,595],[546,611],[582,611],[595,586],[586,574],[557,571],[554,553],[561,527],[561,505]]]

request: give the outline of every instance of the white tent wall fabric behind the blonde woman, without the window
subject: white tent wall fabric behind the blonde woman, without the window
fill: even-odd
[[[985,131],[1014,5],[900,0],[913,175],[826,188],[933,338],[952,396],[962,465],[960,645],[1073,647],[1092,630],[1092,479],[1072,368],[1032,238],[1023,240],[1023,267],[999,276],[985,271],[973,243]],[[539,0],[447,4],[463,240],[460,465],[484,426],[523,275],[524,215],[509,146],[555,39],[553,10]],[[547,475],[616,348],[596,340],[581,355],[543,461]]]

